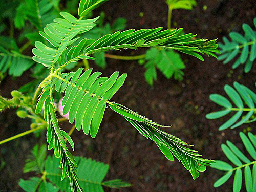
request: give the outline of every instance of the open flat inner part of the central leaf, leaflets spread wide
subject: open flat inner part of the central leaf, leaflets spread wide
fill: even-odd
[[[63,114],[69,112],[69,121],[75,122],[76,129],[94,138],[98,132],[106,109],[106,102],[120,89],[127,74],[118,78],[118,72],[110,78],[99,77],[100,72],[91,75],[92,69],[81,74],[83,68],[75,73],[56,75],[55,89],[64,92]],[[99,78],[98,78],[99,77]],[[69,79],[71,79],[69,81]]]

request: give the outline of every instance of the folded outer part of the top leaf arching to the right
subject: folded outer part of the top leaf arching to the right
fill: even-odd
[[[177,36],[182,29],[163,30],[162,27],[156,29],[126,30],[117,31],[114,34],[108,34],[96,40],[86,49],[86,54],[92,54],[100,51],[137,49],[139,47],[161,47],[174,49],[180,52],[193,55],[203,60],[201,54],[215,56],[218,52],[216,40],[198,39],[188,41],[195,35],[191,33]],[[197,53],[198,52],[198,53]],[[216,56],[215,56],[216,57]]]

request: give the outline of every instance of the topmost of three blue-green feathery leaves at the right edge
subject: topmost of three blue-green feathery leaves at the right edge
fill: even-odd
[[[256,27],[256,18],[253,22]],[[256,58],[256,32],[247,24],[243,24],[242,28],[245,33],[244,36],[237,32],[230,32],[231,41],[223,37],[224,44],[219,44],[221,51],[219,60],[224,60],[223,63],[226,64],[235,59],[232,68],[236,69],[238,66],[245,64],[244,72],[248,73]]]

